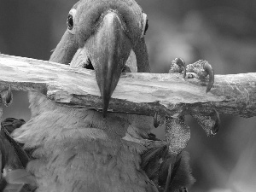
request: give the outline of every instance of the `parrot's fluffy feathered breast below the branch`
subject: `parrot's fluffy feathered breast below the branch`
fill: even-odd
[[[131,124],[124,115],[103,119],[35,92],[29,97],[32,119],[13,136],[33,149],[27,170],[37,191],[156,191],[140,166],[143,145],[122,139]]]

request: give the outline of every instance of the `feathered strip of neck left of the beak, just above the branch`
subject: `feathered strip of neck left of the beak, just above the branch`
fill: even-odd
[[[62,36],[60,43],[54,49],[52,55],[50,55],[49,61],[69,64],[77,49],[78,44],[75,42],[75,36],[66,31]]]

